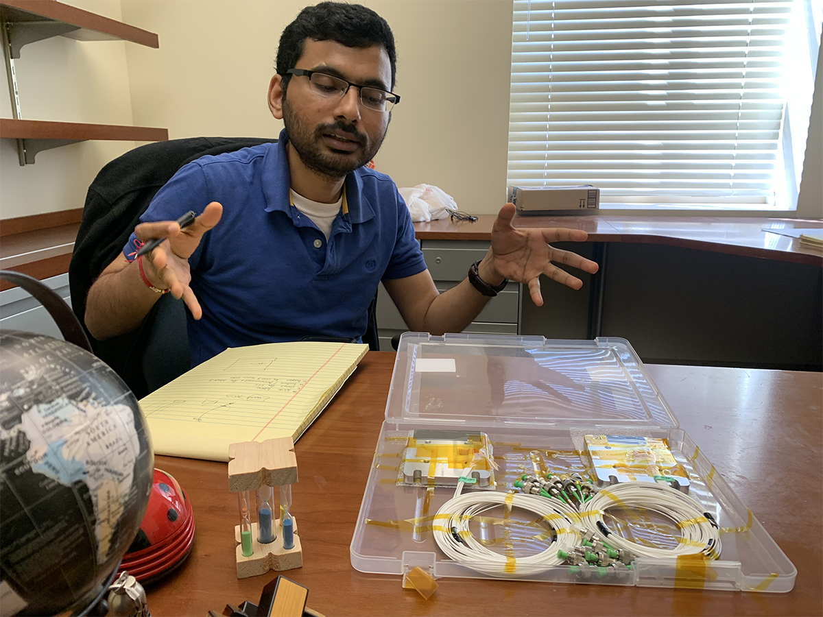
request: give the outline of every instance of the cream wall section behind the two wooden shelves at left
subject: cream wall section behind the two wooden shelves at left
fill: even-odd
[[[66,3],[121,19],[119,0]],[[15,61],[22,118],[132,124],[126,45],[132,44],[59,36],[26,45]],[[0,118],[12,118],[4,69]],[[0,220],[82,207],[100,168],[133,147],[133,142],[86,141],[41,152],[35,165],[21,167],[16,142],[0,139]]]

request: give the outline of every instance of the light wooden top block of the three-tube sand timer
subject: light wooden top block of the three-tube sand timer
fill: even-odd
[[[261,486],[297,482],[295,443],[291,437],[245,441],[229,446],[229,490],[257,490]]]

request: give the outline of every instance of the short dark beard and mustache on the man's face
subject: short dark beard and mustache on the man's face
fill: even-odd
[[[303,123],[299,114],[291,108],[291,104],[283,96],[283,123],[286,125],[286,134],[289,136],[289,143],[294,147],[297,155],[303,164],[317,174],[330,179],[340,179],[351,171],[362,167],[374,158],[383,144],[386,132],[380,136],[379,141],[370,143],[369,136],[360,132],[357,128],[344,120],[337,120],[333,124],[320,124],[312,131]],[[346,138],[357,141],[360,144],[362,154],[354,152],[323,152],[320,143],[323,135],[329,132],[346,133]]]

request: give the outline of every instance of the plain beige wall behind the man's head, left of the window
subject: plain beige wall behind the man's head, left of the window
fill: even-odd
[[[277,40],[306,0],[122,0],[160,35],[126,50],[134,121],[170,137],[276,137],[266,104]],[[510,0],[366,0],[392,26],[402,102],[375,158],[398,186],[436,184],[463,210],[505,201]]]

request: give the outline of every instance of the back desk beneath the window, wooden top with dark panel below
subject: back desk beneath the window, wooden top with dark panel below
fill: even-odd
[[[477,248],[494,219],[441,219],[415,230],[424,251]],[[621,336],[657,364],[823,370],[823,249],[761,229],[823,229],[823,220],[516,216],[514,225],[584,230],[588,242],[558,247],[601,266],[595,276],[574,271],[579,291],[542,281],[541,308],[521,292],[518,334]],[[463,276],[476,258],[454,271]]]

